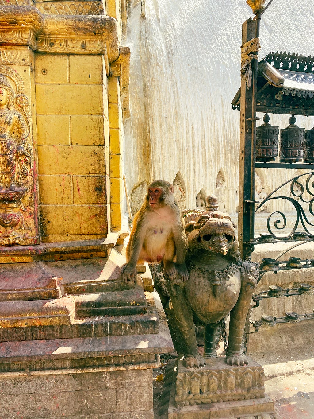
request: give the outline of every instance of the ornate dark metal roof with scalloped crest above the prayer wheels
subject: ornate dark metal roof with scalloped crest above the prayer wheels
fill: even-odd
[[[272,52],[258,63],[256,111],[314,116],[314,58]],[[240,109],[241,89],[232,100]]]

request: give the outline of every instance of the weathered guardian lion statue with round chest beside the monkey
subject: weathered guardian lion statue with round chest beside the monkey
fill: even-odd
[[[176,323],[180,330],[184,364],[201,367],[216,357],[216,334],[221,321],[230,313],[229,347],[226,362],[245,365],[242,347],[247,312],[259,276],[258,266],[242,262],[238,252],[235,225],[218,211],[217,198],[206,198],[206,212],[196,215],[185,226],[188,251],[185,262],[190,278],[166,278]],[[204,326],[204,354],[198,354],[194,326]]]

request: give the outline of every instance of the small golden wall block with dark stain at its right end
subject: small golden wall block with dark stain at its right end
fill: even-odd
[[[73,176],[74,204],[106,204],[105,176]]]

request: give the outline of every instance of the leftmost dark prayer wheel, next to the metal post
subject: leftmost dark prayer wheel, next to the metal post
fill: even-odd
[[[263,117],[264,124],[256,128],[256,161],[266,163],[278,157],[278,127],[268,124],[269,116]]]

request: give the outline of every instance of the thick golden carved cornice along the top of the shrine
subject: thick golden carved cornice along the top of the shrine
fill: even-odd
[[[28,5],[0,5],[0,28],[0,45],[28,45],[57,54],[106,54],[109,63],[120,55],[117,21],[109,16],[52,15]]]

